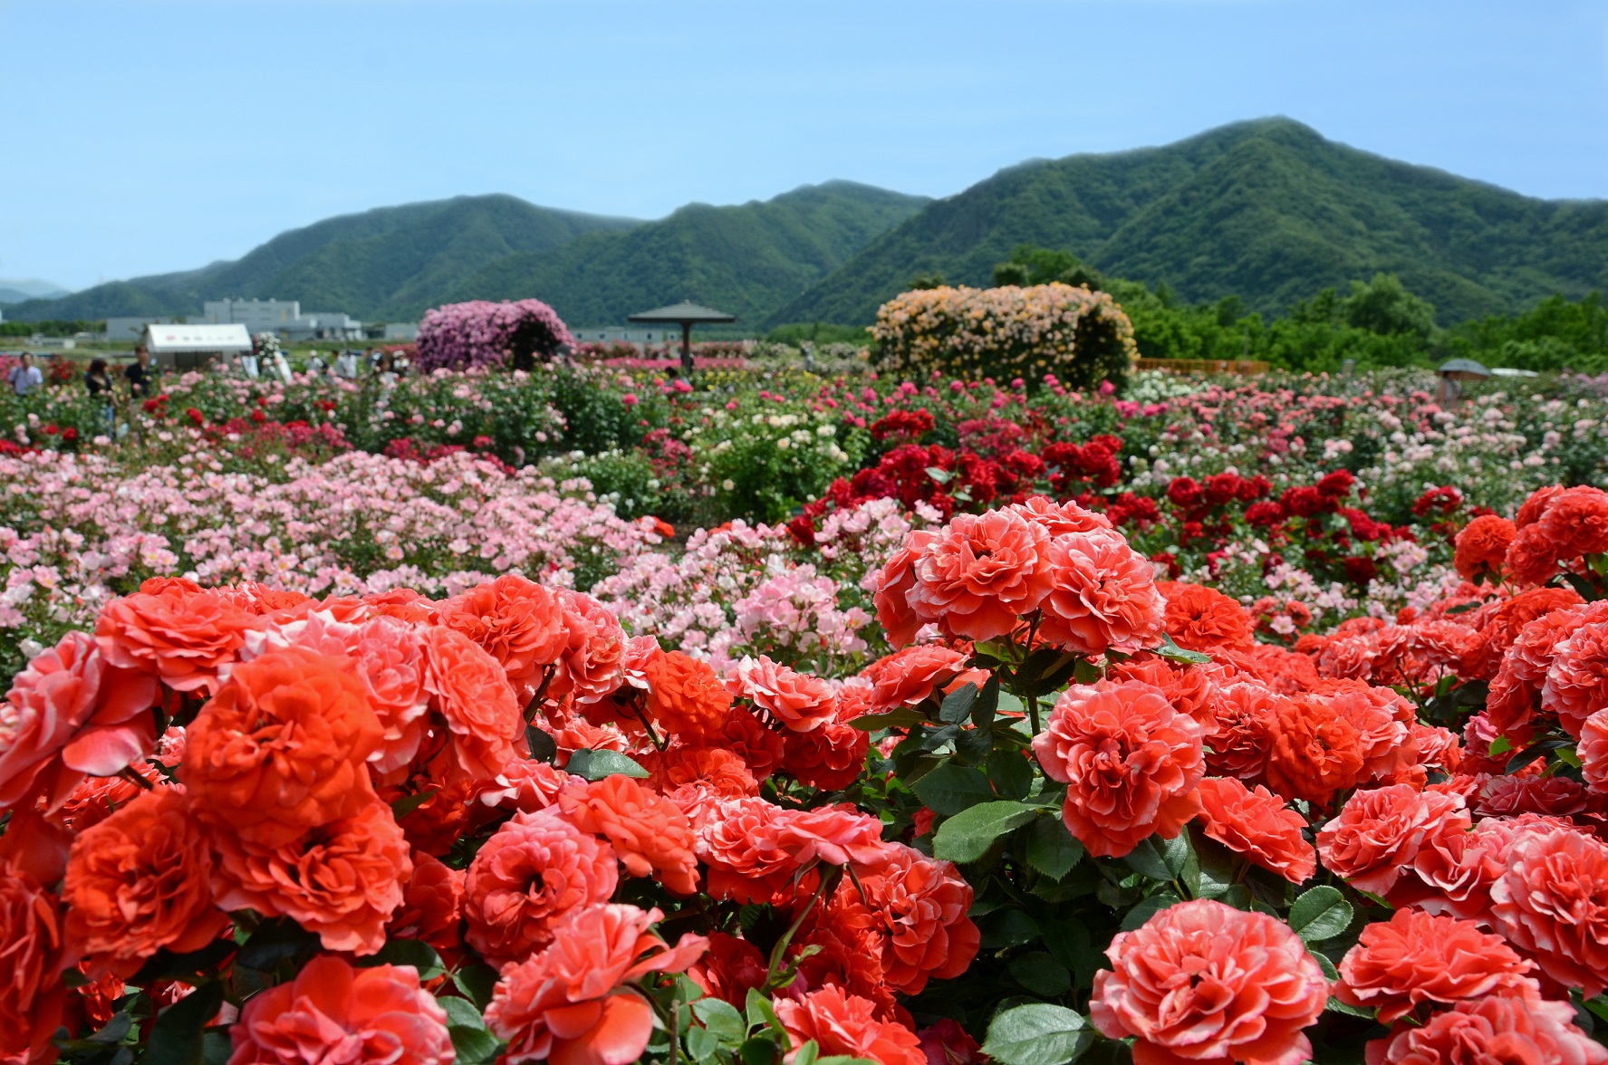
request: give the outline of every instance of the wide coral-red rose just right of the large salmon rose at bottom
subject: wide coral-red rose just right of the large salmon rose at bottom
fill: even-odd
[[[1389,1025],[1421,1002],[1454,1006],[1486,994],[1539,999],[1540,985],[1529,975],[1534,967],[1473,920],[1397,909],[1389,920],[1364,927],[1346,951],[1335,998],[1376,1009],[1380,1023]]]

